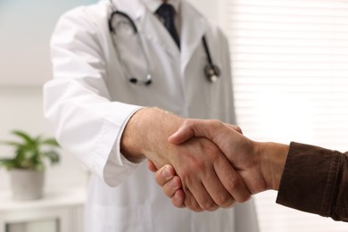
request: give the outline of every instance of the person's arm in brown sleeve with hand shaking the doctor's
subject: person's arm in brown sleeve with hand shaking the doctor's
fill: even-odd
[[[225,153],[253,195],[278,190],[277,203],[348,221],[348,153],[294,142],[260,143],[234,128],[218,120],[185,120],[169,141],[178,145],[207,137]],[[170,165],[156,170],[152,162],[149,169],[156,171],[155,179],[172,204],[186,207],[185,197],[193,196],[185,194],[186,186],[175,170]]]

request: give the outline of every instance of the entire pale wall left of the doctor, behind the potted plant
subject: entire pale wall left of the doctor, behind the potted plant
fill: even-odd
[[[51,77],[49,39],[59,15],[97,0],[0,1],[0,140],[12,139],[12,129],[36,136],[53,136],[44,119],[42,84]],[[0,145],[0,157],[12,150]],[[46,170],[46,187],[85,186],[87,171],[62,151],[59,165]],[[0,191],[10,186],[8,172],[0,170]]]

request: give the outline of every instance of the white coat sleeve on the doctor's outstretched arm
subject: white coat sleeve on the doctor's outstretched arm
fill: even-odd
[[[130,116],[141,107],[110,100],[100,42],[103,33],[85,10],[64,14],[54,29],[54,79],[44,87],[44,111],[62,148],[106,184],[117,186],[139,166],[120,153],[120,137]]]

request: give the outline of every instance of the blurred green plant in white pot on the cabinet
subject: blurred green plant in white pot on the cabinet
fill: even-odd
[[[54,138],[31,137],[28,133],[13,130],[18,141],[0,141],[14,149],[12,158],[0,159],[0,167],[10,171],[14,200],[34,200],[43,196],[46,162],[59,162],[59,147]]]

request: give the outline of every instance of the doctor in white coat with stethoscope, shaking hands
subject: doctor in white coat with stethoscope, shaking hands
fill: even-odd
[[[168,3],[100,1],[65,13],[54,30],[45,114],[92,172],[86,231],[258,231],[253,202],[176,209],[146,168],[145,158],[172,164],[185,194],[203,193],[186,202],[194,211],[250,197],[208,139],[167,140],[184,120],[176,115],[235,122],[226,37],[185,1]]]

